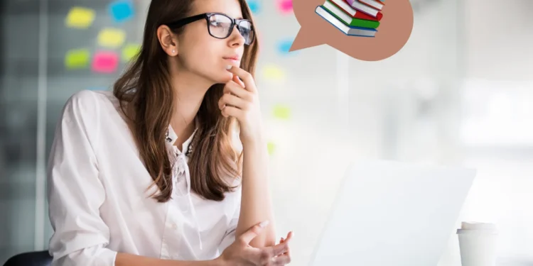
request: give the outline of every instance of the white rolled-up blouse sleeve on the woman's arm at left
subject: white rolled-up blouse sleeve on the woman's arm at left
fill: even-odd
[[[94,92],[78,92],[55,128],[47,172],[53,266],[109,266],[117,255],[107,248],[109,228],[99,216],[105,190],[95,153],[98,107]]]

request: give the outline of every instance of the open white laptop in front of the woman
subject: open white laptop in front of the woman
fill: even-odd
[[[310,265],[438,265],[475,173],[394,161],[352,163]]]

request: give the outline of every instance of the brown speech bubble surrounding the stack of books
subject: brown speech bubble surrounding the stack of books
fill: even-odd
[[[344,0],[343,0],[344,1]],[[375,37],[349,36],[315,13],[325,0],[293,0],[300,31],[289,51],[328,44],[346,55],[365,61],[378,61],[402,49],[413,29],[413,9],[409,0],[384,1]]]

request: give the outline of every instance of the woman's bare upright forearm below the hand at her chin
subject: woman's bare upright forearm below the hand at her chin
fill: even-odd
[[[269,226],[254,238],[250,245],[257,248],[275,245],[276,232],[269,190],[269,153],[266,142],[257,140],[243,143],[243,152],[242,199],[236,235],[244,233],[257,223],[269,220]]]

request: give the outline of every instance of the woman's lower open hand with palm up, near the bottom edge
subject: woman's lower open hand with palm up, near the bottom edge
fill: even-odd
[[[216,260],[221,266],[283,266],[291,262],[289,242],[292,233],[287,235],[283,243],[271,247],[254,248],[249,245],[263,228],[258,223],[242,233],[235,242],[227,247]]]

